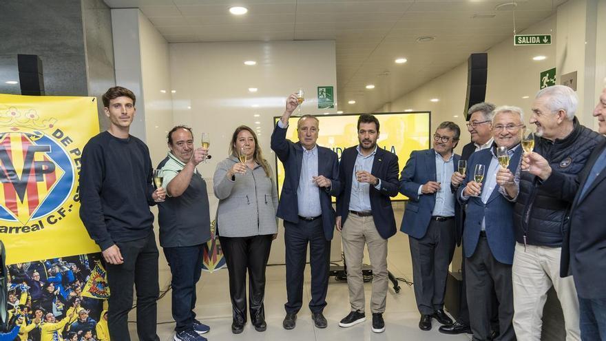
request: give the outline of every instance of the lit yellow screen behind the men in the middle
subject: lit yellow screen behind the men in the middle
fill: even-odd
[[[410,152],[419,149],[428,149],[430,143],[430,112],[390,112],[374,114],[379,119],[379,138],[377,145],[398,156],[401,170],[410,157]],[[359,144],[357,139],[357,118],[359,114],[324,115],[316,116],[320,121],[320,132],[317,144],[332,149],[339,161],[341,153],[347,147]],[[274,124],[280,117],[274,117]],[[299,117],[289,119],[289,129],[286,138],[293,142],[297,138],[297,121]],[[284,167],[275,158],[278,179],[278,193],[282,193],[284,182]],[[406,200],[406,196],[398,194],[392,200]]]

